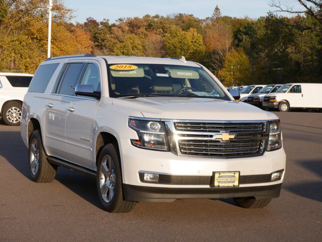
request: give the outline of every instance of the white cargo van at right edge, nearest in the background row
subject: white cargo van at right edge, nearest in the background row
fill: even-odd
[[[321,83],[290,83],[275,93],[265,95],[263,107],[278,108],[287,112],[290,108],[322,108]]]

